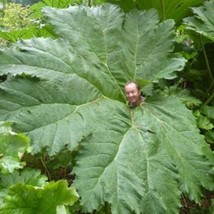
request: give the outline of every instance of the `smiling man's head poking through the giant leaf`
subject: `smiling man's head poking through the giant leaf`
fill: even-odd
[[[140,87],[135,81],[129,81],[125,84],[125,95],[130,106],[139,106],[142,102]]]

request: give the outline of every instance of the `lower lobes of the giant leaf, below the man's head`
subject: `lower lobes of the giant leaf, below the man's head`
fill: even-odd
[[[113,213],[177,213],[179,189],[197,201],[200,186],[213,189],[202,141],[175,97],[147,99],[130,110],[123,132],[107,128],[84,142],[74,183],[83,207],[91,212],[107,201]]]

